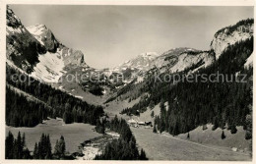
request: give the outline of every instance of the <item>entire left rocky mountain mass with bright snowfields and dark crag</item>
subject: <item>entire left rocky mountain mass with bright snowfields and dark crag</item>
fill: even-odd
[[[7,7],[7,59],[18,68],[43,82],[58,82],[71,66],[88,67],[80,50],[59,42],[44,25],[24,27]]]

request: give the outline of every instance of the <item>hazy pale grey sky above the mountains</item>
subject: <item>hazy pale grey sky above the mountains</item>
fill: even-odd
[[[28,27],[44,24],[95,68],[115,67],[143,52],[208,50],[215,32],[253,18],[252,7],[10,5]]]

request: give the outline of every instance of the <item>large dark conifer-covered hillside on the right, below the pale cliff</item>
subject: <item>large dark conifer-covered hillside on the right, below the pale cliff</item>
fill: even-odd
[[[137,110],[147,110],[151,102],[167,101],[169,108],[165,109],[161,103],[160,116],[155,119],[160,132],[178,135],[208,123],[214,124],[214,129],[224,128],[227,124],[226,128],[231,133],[235,133],[236,126],[244,126],[246,130],[246,116],[250,115],[252,105],[252,68],[245,69],[244,64],[252,51],[253,37],[228,46],[213,65],[195,73],[208,79],[215,75],[211,77],[215,82],[205,81],[202,76],[197,82],[194,79],[193,82],[176,84],[149,81],[152,86],[149,87],[149,98],[122,113],[138,115]],[[217,82],[218,74],[223,74],[227,81]],[[243,80],[246,82],[234,81],[235,77],[241,81],[243,74],[246,75]]]

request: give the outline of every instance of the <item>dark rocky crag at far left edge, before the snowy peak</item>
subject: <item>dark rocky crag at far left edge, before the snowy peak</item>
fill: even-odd
[[[46,49],[9,7],[6,12],[6,58],[18,68],[32,73],[33,67],[39,62],[38,54],[45,53]]]

